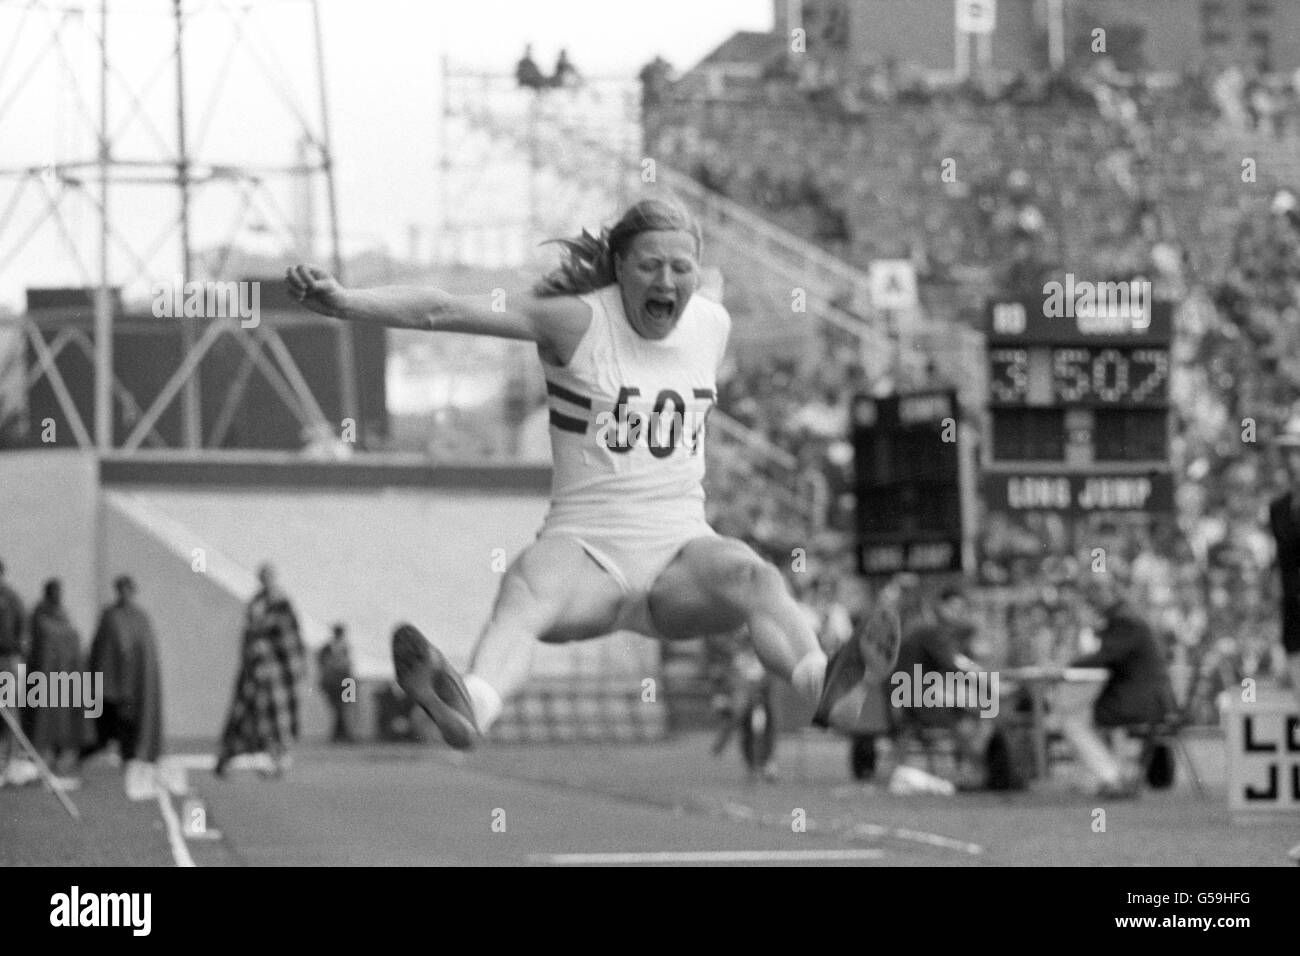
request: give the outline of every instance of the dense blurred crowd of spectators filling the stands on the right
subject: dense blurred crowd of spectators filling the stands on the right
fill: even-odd
[[[954,282],[978,303],[1072,271],[1147,277],[1175,303],[1176,514],[1084,529],[982,515],[980,576],[1010,594],[992,622],[1005,659],[1060,657],[1076,632],[1061,592],[1104,548],[1182,688],[1199,672],[1195,704],[1212,721],[1218,691],[1279,659],[1266,506],[1282,476],[1268,442],[1300,398],[1300,211],[1287,189],[1300,164],[1257,182],[1240,157],[1261,135],[1300,142],[1297,85],[1235,68],[1165,82],[1105,60],[950,86],[893,66],[812,88],[776,73],[720,103],[688,81],[659,88],[646,129],[668,163],[859,267],[910,259],[923,300],[928,285]],[[952,317],[982,320],[971,304]],[[805,507],[733,480],[749,467],[734,457],[711,462],[720,524],[786,564],[812,544],[822,572],[801,591],[823,617],[849,572],[835,558],[854,507],[849,401],[880,385],[835,334],[815,363],[759,362],[720,386],[722,408],[794,458],[785,485]]]

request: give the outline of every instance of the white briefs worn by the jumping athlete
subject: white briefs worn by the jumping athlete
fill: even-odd
[[[558,537],[576,541],[592,561],[618,581],[623,591],[623,604],[619,607],[615,631],[634,631],[646,637],[662,637],[650,618],[647,601],[650,588],[688,541],[718,537],[718,532],[705,522],[692,522],[653,533],[636,535],[611,535],[569,523],[554,525],[547,523],[537,533],[538,540]]]

